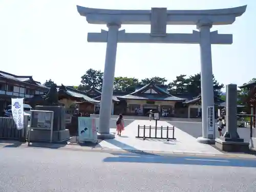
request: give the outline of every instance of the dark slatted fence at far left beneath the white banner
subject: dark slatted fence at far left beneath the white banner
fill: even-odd
[[[27,128],[28,128],[28,119],[24,119],[25,128],[22,130],[17,130],[17,126],[10,117],[0,117],[0,139],[12,139],[19,141],[26,141],[27,137]],[[26,123],[27,122],[27,123]]]

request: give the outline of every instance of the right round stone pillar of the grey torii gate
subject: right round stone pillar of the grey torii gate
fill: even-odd
[[[214,85],[212,81],[212,63],[211,63],[211,42],[209,20],[200,20],[197,28],[200,30],[200,54],[201,54],[201,96],[202,96],[202,137],[198,142],[214,144],[215,143],[215,123],[213,130],[209,127],[207,107],[214,107]],[[214,114],[213,114],[213,119]]]

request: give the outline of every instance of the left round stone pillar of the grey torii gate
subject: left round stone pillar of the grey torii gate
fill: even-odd
[[[99,139],[115,138],[115,135],[110,134],[110,118],[116,67],[117,37],[118,29],[121,26],[118,24],[108,24],[107,26],[109,31],[108,42],[106,44],[105,67],[100,101],[98,129]]]

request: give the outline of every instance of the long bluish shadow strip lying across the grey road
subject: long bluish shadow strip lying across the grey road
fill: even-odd
[[[164,157],[139,154],[113,154],[116,157],[106,157],[104,162],[126,162],[126,163],[162,163],[162,164],[184,164],[184,165],[208,165],[208,166],[232,166],[232,167],[255,167],[256,160],[226,159],[207,157]]]

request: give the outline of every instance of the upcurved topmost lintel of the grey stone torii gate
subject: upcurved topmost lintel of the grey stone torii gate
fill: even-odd
[[[151,15],[166,17],[166,25],[197,25],[199,20],[207,18],[212,25],[230,25],[236,17],[246,11],[247,5],[227,9],[212,10],[110,10],[77,6],[81,16],[87,17],[89,24],[109,24],[118,22],[124,25],[151,25]]]

